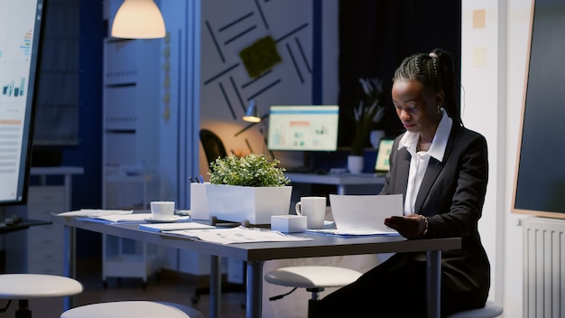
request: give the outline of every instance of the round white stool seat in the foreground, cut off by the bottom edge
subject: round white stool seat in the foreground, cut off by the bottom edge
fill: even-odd
[[[198,310],[182,304],[119,301],[98,304],[85,304],[71,308],[60,315],[60,318],[204,318]]]

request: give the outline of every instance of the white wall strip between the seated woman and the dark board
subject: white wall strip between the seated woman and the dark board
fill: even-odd
[[[532,0],[462,1],[463,122],[486,136],[490,175],[479,230],[491,260],[489,298],[523,317],[522,217],[511,214]],[[473,14],[485,10],[485,27]],[[483,54],[484,53],[484,54]]]

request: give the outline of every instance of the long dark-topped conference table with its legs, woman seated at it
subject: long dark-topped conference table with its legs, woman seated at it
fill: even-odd
[[[266,260],[331,257],[394,252],[427,252],[427,302],[428,317],[440,317],[441,250],[461,248],[461,239],[416,239],[402,237],[338,238],[309,233],[295,233],[311,240],[288,242],[261,242],[244,244],[217,244],[198,239],[138,229],[138,224],[104,224],[53,216],[54,223],[65,226],[66,275],[75,277],[75,229],[87,229],[126,239],[136,239],[170,248],[181,248],[211,256],[210,267],[210,317],[219,317],[221,295],[220,257],[234,258],[247,264],[245,316],[261,317],[263,294],[263,264]],[[66,308],[72,306],[70,299]]]

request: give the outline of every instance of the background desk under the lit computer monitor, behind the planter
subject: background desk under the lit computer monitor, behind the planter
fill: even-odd
[[[295,183],[330,184],[338,187],[338,194],[347,194],[349,185],[384,185],[384,176],[375,173],[284,173]]]

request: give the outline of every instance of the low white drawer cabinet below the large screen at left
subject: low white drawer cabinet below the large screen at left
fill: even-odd
[[[32,168],[31,175],[39,176],[39,185],[30,186],[26,205],[11,207],[5,212],[17,213],[24,219],[51,221],[51,213],[70,210],[71,175],[81,174],[79,167]],[[62,185],[48,185],[48,175],[64,175]],[[6,271],[64,275],[64,229],[49,224],[15,231],[5,235]]]

